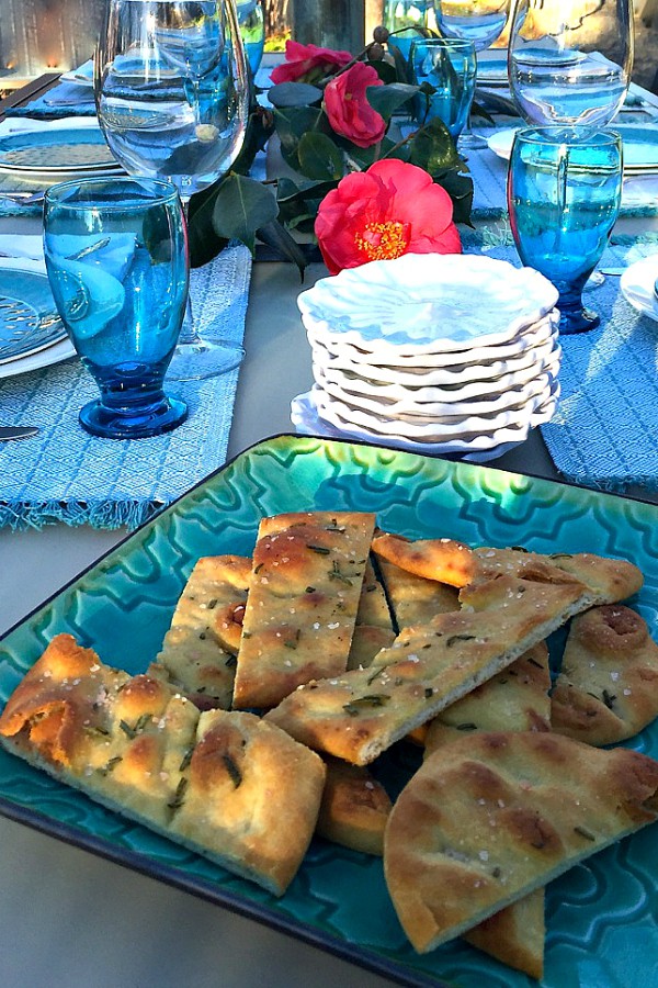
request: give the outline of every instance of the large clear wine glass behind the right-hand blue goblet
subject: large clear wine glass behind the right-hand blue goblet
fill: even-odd
[[[515,0],[510,91],[531,124],[606,126],[633,68],[633,0]]]

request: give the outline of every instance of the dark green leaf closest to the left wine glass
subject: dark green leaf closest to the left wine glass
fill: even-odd
[[[236,238],[253,252],[256,232],[279,215],[270,189],[241,175],[227,176],[215,197],[213,228],[217,236]]]

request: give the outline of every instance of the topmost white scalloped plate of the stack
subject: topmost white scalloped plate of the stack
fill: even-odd
[[[532,268],[475,254],[405,254],[322,278],[297,304],[307,329],[379,358],[438,353],[514,339],[557,303]]]

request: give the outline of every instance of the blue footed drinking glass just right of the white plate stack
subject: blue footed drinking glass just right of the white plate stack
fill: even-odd
[[[622,139],[591,127],[517,132],[508,169],[508,210],[524,265],[559,291],[559,332],[582,333],[599,316],[582,289],[601,258],[620,211]]]

